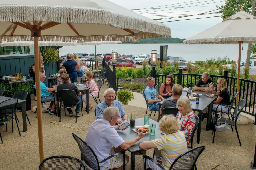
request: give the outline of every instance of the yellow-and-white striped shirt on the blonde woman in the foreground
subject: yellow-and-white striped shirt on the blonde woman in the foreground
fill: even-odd
[[[187,151],[187,142],[183,132],[178,131],[163,135],[158,139],[153,140],[153,143],[163,156],[162,166],[168,170],[173,161],[181,154]],[[186,164],[188,160],[184,160]]]

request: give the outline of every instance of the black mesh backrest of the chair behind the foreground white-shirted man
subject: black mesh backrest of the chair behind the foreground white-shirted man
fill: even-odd
[[[99,170],[99,161],[92,148],[76,134],[72,133],[72,136],[78,144],[81,152],[81,159],[85,162],[86,166],[91,169]]]

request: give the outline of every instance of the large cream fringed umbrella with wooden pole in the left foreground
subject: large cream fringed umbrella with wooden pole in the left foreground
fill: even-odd
[[[0,24],[0,41],[34,41],[36,84],[40,82],[38,41],[138,41],[171,36],[166,25],[106,0],[2,0]],[[40,88],[36,90],[40,96]],[[42,162],[40,105],[39,97],[38,138]]]

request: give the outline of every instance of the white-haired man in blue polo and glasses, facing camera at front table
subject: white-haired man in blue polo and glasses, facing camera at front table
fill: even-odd
[[[104,100],[96,106],[96,119],[102,119],[103,111],[109,106],[118,108],[119,119],[117,120],[116,124],[120,124],[123,121],[128,120],[127,115],[123,110],[122,104],[118,100],[115,100],[115,90],[113,88],[108,88],[105,90]]]

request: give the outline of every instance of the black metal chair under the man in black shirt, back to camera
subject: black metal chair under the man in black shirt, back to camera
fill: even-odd
[[[66,116],[65,108],[74,108],[75,107],[77,110],[78,99],[77,99],[77,93],[74,90],[69,90],[69,89],[59,90],[58,97],[63,102],[61,107],[64,108],[65,116]],[[60,113],[61,113],[61,107],[59,108]],[[82,116],[83,116],[82,106],[81,106],[81,112],[82,112]],[[61,122],[61,114],[59,114],[59,122]],[[75,122],[77,122],[77,112],[75,113]]]

